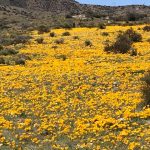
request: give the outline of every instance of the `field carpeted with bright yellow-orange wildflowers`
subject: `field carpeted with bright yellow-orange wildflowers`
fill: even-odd
[[[20,50],[31,60],[0,65],[0,150],[149,150],[150,108],[140,104],[150,33],[133,26],[137,56],[104,51],[129,28],[32,31]]]

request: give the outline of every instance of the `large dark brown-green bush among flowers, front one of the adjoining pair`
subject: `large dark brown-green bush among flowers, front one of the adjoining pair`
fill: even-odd
[[[117,40],[112,45],[106,44],[105,51],[113,53],[127,53],[132,46],[130,38],[126,34],[119,34]]]

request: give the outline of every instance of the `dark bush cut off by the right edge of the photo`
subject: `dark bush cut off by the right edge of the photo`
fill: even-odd
[[[142,79],[145,82],[145,85],[142,88],[144,106],[150,105],[150,71]]]

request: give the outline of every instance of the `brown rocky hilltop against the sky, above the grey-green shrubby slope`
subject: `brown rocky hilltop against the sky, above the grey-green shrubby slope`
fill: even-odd
[[[80,4],[74,0],[0,0],[0,4],[51,12],[80,11]]]

